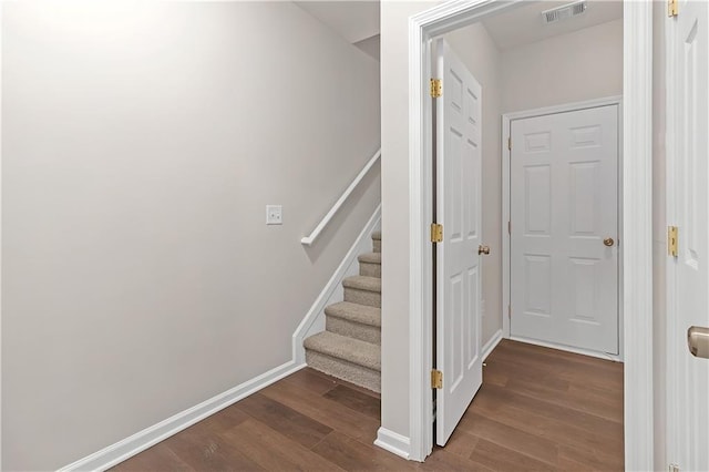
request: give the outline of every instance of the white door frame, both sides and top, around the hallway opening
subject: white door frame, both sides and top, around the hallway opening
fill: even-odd
[[[520,4],[450,0],[409,19],[409,458],[433,448],[432,119],[427,94],[433,37]],[[623,254],[625,466],[654,470],[653,411],[653,2],[624,2]],[[631,329],[628,329],[631,328]]]

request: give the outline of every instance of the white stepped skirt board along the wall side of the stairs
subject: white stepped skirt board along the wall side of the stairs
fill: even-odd
[[[381,204],[377,206],[374,213],[369,218],[369,222],[364,225],[352,247],[348,250],[347,255],[340,263],[330,280],[327,283],[318,298],[306,314],[300,325],[292,334],[292,358],[296,362],[302,363],[306,361],[306,350],[302,347],[302,341],[310,335],[325,330],[325,307],[336,301],[342,301],[345,299],[345,293],[342,289],[342,280],[346,277],[357,275],[359,270],[359,264],[357,257],[362,253],[371,252],[372,232],[381,227]]]

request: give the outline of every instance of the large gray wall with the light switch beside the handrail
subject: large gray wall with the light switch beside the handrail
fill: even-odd
[[[289,2],[96,3],[2,6],[3,470],[290,360],[380,201],[300,245],[379,147],[377,61]]]

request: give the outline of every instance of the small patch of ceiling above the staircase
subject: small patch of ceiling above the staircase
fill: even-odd
[[[356,43],[379,34],[379,0],[294,1],[298,7]]]

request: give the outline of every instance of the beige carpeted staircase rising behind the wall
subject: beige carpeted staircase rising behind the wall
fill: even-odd
[[[359,259],[359,275],[342,280],[345,301],[325,308],[325,331],[304,341],[312,369],[381,390],[381,233]]]

